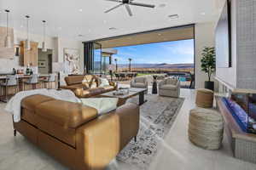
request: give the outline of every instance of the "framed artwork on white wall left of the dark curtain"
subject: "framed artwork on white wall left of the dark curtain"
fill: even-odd
[[[79,74],[80,51],[75,48],[64,48],[64,62],[68,65],[70,74]]]

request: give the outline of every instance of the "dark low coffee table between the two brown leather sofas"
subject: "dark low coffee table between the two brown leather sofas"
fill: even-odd
[[[127,99],[130,99],[134,96],[139,95],[139,103],[138,105],[143,105],[147,100],[144,99],[144,94],[147,92],[146,88],[129,88],[128,94],[122,94],[122,95],[114,95],[113,93],[116,91],[111,91],[105,94],[101,94],[101,97],[108,97],[108,98],[118,98],[119,99],[119,105],[124,105]]]

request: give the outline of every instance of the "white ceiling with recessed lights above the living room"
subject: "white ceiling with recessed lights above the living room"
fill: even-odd
[[[0,0],[0,26],[6,26],[4,9],[11,10],[10,26],[26,31],[25,15],[31,16],[30,32],[43,33],[42,20],[47,21],[47,35],[89,41],[149,31],[171,26],[210,22],[218,18],[224,0],[135,0],[155,4],[156,8],[131,6],[130,17],[124,7],[105,14],[117,3],[105,0]],[[160,4],[166,7],[160,8]],[[81,11],[82,10],[82,11]],[[170,14],[179,18],[171,20]],[[117,30],[109,30],[115,27]],[[83,37],[79,37],[79,34]]]

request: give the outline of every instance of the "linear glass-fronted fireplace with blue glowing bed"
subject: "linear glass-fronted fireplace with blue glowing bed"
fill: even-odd
[[[256,94],[233,93],[222,100],[243,132],[256,133]]]

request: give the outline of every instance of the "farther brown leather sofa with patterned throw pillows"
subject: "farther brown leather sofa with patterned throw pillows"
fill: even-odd
[[[88,85],[85,86],[83,81],[87,80]],[[110,86],[99,87],[100,80],[94,75],[79,75],[65,77],[67,86],[61,86],[64,89],[70,89],[79,98],[90,98],[103,93],[116,90],[117,86],[114,82],[109,82]]]

